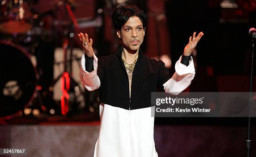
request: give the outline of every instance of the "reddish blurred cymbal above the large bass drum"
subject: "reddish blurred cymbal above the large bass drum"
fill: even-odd
[[[0,24],[0,31],[8,34],[26,33],[31,27],[32,25],[25,21],[9,20]]]

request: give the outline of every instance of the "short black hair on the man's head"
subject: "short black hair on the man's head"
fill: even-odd
[[[146,30],[146,24],[148,20],[147,15],[145,14],[145,12],[143,12],[143,10],[138,8],[136,5],[129,4],[120,5],[113,12],[112,22],[115,27],[115,30],[121,30],[121,28],[128,21],[128,19],[133,16],[136,16],[141,20],[143,28],[144,30]]]

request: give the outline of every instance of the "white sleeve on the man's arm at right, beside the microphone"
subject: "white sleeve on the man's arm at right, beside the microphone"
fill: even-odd
[[[164,83],[164,92],[171,94],[179,94],[186,89],[191,81],[195,77],[195,66],[193,58],[189,61],[189,65],[186,66],[181,63],[182,56],[175,64],[175,73],[167,82]]]

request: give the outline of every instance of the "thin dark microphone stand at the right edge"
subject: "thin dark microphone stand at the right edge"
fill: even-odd
[[[250,151],[250,148],[251,148],[251,140],[250,140],[250,124],[251,124],[251,95],[252,95],[252,85],[253,85],[253,57],[254,57],[254,38],[252,39],[252,45],[251,45],[251,82],[250,82],[250,102],[249,102],[249,117],[248,117],[248,139],[246,140],[247,157],[249,157],[249,151]]]

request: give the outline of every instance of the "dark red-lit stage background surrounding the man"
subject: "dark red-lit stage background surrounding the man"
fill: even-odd
[[[0,67],[4,78],[0,79],[0,148],[26,147],[31,157],[92,157],[100,124],[99,100],[97,91],[86,91],[79,81],[82,48],[77,34],[90,35],[97,56],[115,53],[120,41],[111,14],[121,3],[136,4],[147,13],[141,48],[149,57],[163,60],[171,74],[192,33],[204,32],[193,52],[196,75],[186,92],[249,92],[248,30],[256,27],[255,0],[23,0],[25,21],[31,27],[21,33],[6,32],[3,27],[16,17],[19,5],[6,5],[16,4],[11,0],[0,2],[0,52],[4,56]],[[78,28],[72,25],[66,4],[74,12]],[[18,29],[23,25],[18,24]],[[64,71],[71,81],[68,105],[61,106]],[[255,73],[253,70],[253,91]],[[20,85],[18,102],[5,97],[13,77],[18,77],[18,84],[28,85]],[[159,157],[246,156],[247,125],[247,118],[236,117],[156,117],[156,151]],[[255,118],[251,125],[252,157],[256,155]]]

